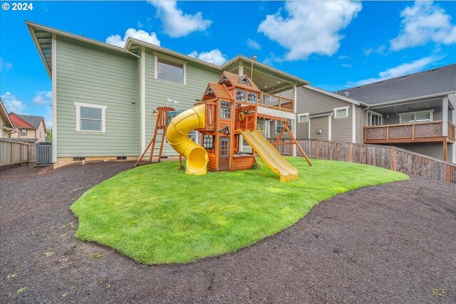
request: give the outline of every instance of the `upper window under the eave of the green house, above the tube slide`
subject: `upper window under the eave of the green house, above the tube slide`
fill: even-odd
[[[155,56],[155,79],[185,85],[187,65],[183,61]]]

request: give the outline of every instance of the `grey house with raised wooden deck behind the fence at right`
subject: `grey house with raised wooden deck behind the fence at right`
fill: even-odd
[[[303,86],[296,135],[394,145],[456,163],[455,79],[452,64],[336,93]]]

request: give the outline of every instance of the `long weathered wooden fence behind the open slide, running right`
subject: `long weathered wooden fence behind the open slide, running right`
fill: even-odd
[[[274,144],[274,141],[269,140],[271,144]],[[289,142],[289,140],[281,140],[281,142]],[[298,140],[298,142],[307,156],[312,158],[370,164],[456,184],[456,164],[397,147],[323,140]],[[276,149],[281,154],[291,155],[291,147],[292,145],[278,145]],[[302,156],[299,149],[296,150],[296,156]]]

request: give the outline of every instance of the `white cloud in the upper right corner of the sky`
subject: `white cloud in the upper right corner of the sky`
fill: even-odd
[[[403,18],[399,35],[390,41],[393,51],[413,46],[423,46],[429,41],[435,43],[456,43],[456,25],[451,16],[432,1],[416,1],[401,11]]]

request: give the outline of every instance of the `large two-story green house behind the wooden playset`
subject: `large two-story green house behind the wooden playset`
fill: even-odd
[[[244,56],[219,66],[134,38],[119,48],[26,24],[52,81],[55,167],[80,159],[138,159],[152,138],[156,108],[191,108],[222,71],[248,75],[262,91],[257,125],[266,136],[275,120],[289,120],[294,130],[294,93],[309,84]],[[276,96],[290,88],[289,98]],[[163,155],[176,153],[165,144]]]

